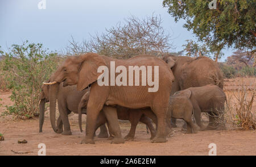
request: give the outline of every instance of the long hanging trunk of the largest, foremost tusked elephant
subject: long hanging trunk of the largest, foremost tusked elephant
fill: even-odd
[[[50,109],[50,120],[53,131],[56,132],[56,120],[55,120],[55,113],[56,113],[56,100],[57,100],[57,93],[59,90],[59,83],[55,83],[49,87],[49,109]]]

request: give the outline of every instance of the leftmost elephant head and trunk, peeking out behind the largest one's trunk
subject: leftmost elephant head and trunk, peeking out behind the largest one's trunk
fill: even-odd
[[[49,102],[49,86],[42,85],[41,93],[39,95],[39,132],[42,132],[43,123],[44,123],[44,105],[46,102]]]

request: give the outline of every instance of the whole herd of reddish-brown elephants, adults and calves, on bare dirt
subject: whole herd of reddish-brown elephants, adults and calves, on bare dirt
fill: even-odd
[[[134,80],[136,83],[136,77],[130,77],[130,73],[123,72],[123,69],[122,81],[129,81],[129,86],[125,82],[113,85],[112,77],[110,81],[108,77],[104,77],[104,83],[109,84],[98,84],[99,78],[102,79],[99,68],[104,67],[104,74],[113,75],[113,62],[115,66],[127,69],[130,66],[157,66],[158,68],[151,68],[154,77],[150,79],[158,80],[158,90],[148,91],[152,85],[143,85],[143,81],[139,81],[141,85],[130,85]],[[147,74],[149,71],[147,69]],[[120,76],[121,70],[118,73],[114,77]],[[143,78],[142,70],[138,74]],[[128,79],[124,78],[127,76]],[[87,115],[86,135],[81,143],[94,144],[94,133],[99,127],[98,137],[109,137],[112,143],[124,143],[118,119],[129,120],[131,123],[126,140],[134,139],[137,124],[141,122],[149,128],[152,143],[166,142],[171,128],[176,126],[175,119],[185,120],[187,133],[203,130],[201,112],[209,113],[207,129],[224,127],[220,124],[226,101],[222,91],[223,82],[221,70],[208,57],[166,55],[160,59],[151,55],[139,55],[119,60],[96,53],[71,56],[42,85],[39,132],[42,132],[46,102],[49,102],[51,126],[56,133],[72,134],[68,121],[71,111],[79,114],[82,132],[81,114]],[[59,108],[57,123],[56,101]]]

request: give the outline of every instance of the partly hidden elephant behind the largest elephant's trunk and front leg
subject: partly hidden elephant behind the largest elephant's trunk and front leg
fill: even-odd
[[[88,89],[77,91],[76,85],[63,87],[63,83],[60,83],[57,85],[57,102],[59,107],[60,116],[57,119],[57,128],[56,133],[62,133],[63,135],[71,135],[71,128],[68,121],[68,114],[71,113],[71,111],[78,113],[78,105],[82,98],[82,95],[84,95]],[[49,94],[51,92],[49,91],[48,85],[42,86],[42,91],[40,93],[40,114],[39,114],[39,132],[42,132],[43,123],[44,123],[44,105],[45,103],[49,102]],[[56,108],[52,108],[50,111],[50,114],[54,114],[55,119],[55,112]],[[86,108],[82,110],[82,114],[86,114]],[[64,126],[64,131],[63,131]],[[108,137],[108,130],[106,129],[105,125],[102,125],[101,132],[98,137]]]

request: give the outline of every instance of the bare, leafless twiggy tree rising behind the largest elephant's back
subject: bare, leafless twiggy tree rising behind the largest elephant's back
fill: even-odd
[[[112,28],[106,28],[101,35],[91,36],[82,43],[69,41],[68,55],[79,55],[96,52],[117,59],[129,59],[135,55],[151,54],[158,56],[167,53],[172,47],[170,35],[161,26],[160,15],[152,15],[143,19],[135,16],[125,19]]]

